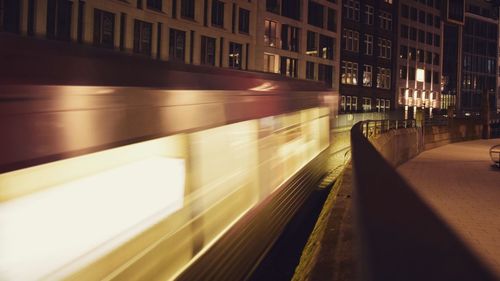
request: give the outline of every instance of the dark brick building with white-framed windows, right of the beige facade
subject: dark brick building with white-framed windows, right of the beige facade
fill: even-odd
[[[385,112],[394,107],[397,2],[342,2],[341,112]]]

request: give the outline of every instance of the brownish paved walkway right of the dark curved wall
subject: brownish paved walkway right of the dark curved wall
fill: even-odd
[[[488,154],[495,144],[500,139],[445,145],[397,170],[500,276],[500,170]]]

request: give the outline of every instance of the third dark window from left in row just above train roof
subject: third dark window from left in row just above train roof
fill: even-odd
[[[113,48],[115,42],[115,14],[94,9],[94,45]]]

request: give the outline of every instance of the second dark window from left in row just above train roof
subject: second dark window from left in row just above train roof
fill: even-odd
[[[47,37],[69,41],[71,34],[72,1],[48,0]]]

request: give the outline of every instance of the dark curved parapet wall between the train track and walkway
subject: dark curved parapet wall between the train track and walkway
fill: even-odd
[[[351,130],[359,279],[496,280],[394,169],[422,151],[422,129],[369,127]]]

